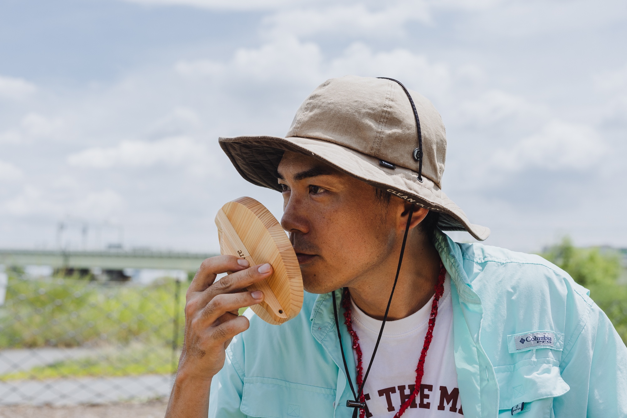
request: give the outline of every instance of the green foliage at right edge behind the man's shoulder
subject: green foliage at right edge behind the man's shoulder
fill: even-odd
[[[621,254],[599,248],[576,248],[568,237],[540,254],[590,290],[590,297],[608,315],[627,343],[627,285],[618,283]]]

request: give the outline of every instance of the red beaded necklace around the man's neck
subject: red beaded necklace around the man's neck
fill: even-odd
[[[409,398],[403,402],[399,411],[394,415],[394,418],[399,418],[406,409],[408,409],[409,404],[413,402],[418,395],[420,390],[420,384],[423,380],[424,375],[424,359],[427,356],[427,350],[429,350],[429,345],[431,345],[431,340],[433,339],[433,328],[435,327],[435,318],[438,316],[438,301],[440,300],[442,293],[444,293],[444,279],[446,277],[446,269],[444,268],[444,264],[440,261],[440,274],[438,275],[438,281],[435,285],[435,296],[433,298],[433,303],[431,303],[431,315],[429,315],[429,327],[427,328],[427,333],[424,336],[424,344],[423,350],[420,353],[420,358],[418,360],[418,366],[416,367],[416,385],[414,385],[414,390],[409,395]],[[345,325],[348,328],[348,332],[350,337],[352,338],[352,348],[357,353],[357,387],[362,388],[363,373],[364,367],[362,365],[362,353],[361,347],[359,347],[359,337],[357,337],[357,333],[352,329],[352,320],[350,318],[350,293],[348,288],[344,289],[344,294],[342,295],[342,307],[344,308],[344,318]],[[363,390],[360,390],[361,396],[359,397],[360,402],[366,402],[366,398],[362,393]],[[359,410],[359,418],[365,418],[366,410]]]

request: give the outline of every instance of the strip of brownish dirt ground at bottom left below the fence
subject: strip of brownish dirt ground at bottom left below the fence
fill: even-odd
[[[167,400],[67,407],[0,406],[0,418],[163,418],[166,406]]]

